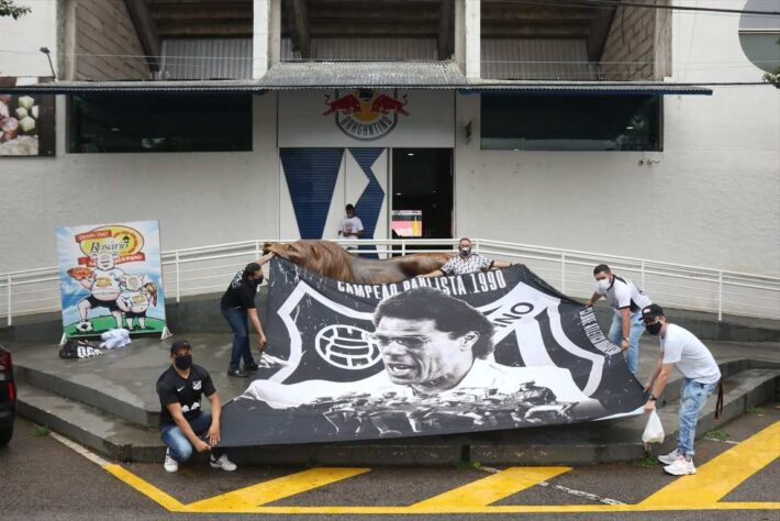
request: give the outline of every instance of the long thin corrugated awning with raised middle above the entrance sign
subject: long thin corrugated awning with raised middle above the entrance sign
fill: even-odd
[[[472,93],[526,93],[560,96],[712,95],[697,84],[662,81],[530,81],[467,79],[455,62],[305,62],[271,67],[260,79],[58,81],[18,87],[0,86],[0,92],[186,92],[253,93],[272,90],[314,89],[457,90]]]

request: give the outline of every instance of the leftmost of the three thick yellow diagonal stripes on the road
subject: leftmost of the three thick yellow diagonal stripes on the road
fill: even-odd
[[[258,483],[232,492],[189,503],[194,512],[237,512],[254,509],[259,505],[277,501],[313,488],[323,487],[353,476],[370,472],[370,468],[312,468],[268,481]]]

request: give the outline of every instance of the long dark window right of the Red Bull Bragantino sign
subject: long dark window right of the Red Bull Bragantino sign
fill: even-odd
[[[658,96],[482,95],[481,146],[515,151],[660,151]]]

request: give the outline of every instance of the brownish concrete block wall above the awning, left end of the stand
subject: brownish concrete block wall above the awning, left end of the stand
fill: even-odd
[[[76,79],[148,79],[124,0],[79,0],[76,5]],[[113,56],[111,56],[113,55]]]

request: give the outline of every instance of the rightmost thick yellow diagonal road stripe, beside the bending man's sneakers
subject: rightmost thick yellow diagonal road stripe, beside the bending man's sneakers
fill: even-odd
[[[780,421],[709,461],[697,474],[683,476],[640,505],[712,505],[780,457]]]

